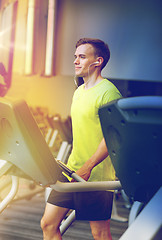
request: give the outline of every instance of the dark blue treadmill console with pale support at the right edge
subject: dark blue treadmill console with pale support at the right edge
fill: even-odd
[[[162,97],[120,99],[99,116],[116,175],[134,201],[121,239],[161,239]]]

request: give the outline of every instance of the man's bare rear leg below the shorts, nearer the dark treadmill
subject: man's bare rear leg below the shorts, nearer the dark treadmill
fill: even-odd
[[[90,226],[95,240],[112,240],[110,233],[110,219],[90,221]]]

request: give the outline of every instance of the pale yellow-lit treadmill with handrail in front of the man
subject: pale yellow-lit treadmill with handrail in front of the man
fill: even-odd
[[[39,186],[57,191],[121,188],[119,181],[96,182],[95,186],[91,182],[85,182],[83,185],[82,178],[67,169],[60,161],[56,161],[25,101],[0,98],[0,132],[0,176],[4,174],[12,176],[11,191],[0,203],[0,212],[15,197],[19,177],[33,180]],[[57,181],[62,170],[79,182],[71,184]],[[69,219],[75,220],[75,212],[61,226],[62,234],[68,228],[68,224],[71,224]]]

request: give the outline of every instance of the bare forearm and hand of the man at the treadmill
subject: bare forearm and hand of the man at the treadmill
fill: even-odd
[[[97,151],[92,155],[90,159],[88,159],[84,163],[84,165],[78,171],[76,171],[76,174],[78,174],[80,177],[87,181],[91,175],[92,169],[99,163],[101,163],[108,155],[109,153],[107,150],[105,139],[103,138],[97,148]]]

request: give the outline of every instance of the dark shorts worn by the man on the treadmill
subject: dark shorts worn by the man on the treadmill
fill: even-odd
[[[59,181],[69,182],[62,174]],[[108,220],[111,218],[113,192],[95,191],[64,193],[52,190],[47,202],[59,207],[76,210],[77,220]]]

